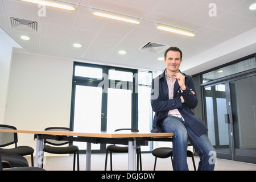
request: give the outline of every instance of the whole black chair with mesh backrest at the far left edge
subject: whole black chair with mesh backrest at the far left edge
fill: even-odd
[[[2,130],[17,130],[16,127],[10,125],[0,125]],[[18,146],[18,135],[17,133],[0,133],[0,147],[6,147],[14,144],[14,148],[1,148],[2,154],[19,154],[22,156],[31,155],[31,166],[34,166],[34,149],[29,146]]]

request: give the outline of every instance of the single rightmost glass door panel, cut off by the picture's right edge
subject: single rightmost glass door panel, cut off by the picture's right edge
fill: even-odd
[[[256,76],[229,82],[235,160],[256,163]]]

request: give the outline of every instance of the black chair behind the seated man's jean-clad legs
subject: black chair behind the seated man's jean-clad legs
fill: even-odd
[[[188,144],[188,146],[191,146],[191,144]],[[193,167],[194,170],[196,171],[196,164],[195,164],[195,160],[194,160],[194,156],[193,156],[192,151],[187,150],[187,156],[192,158],[192,162],[193,162]],[[154,164],[154,171],[155,171],[155,167],[156,167],[156,159],[157,158],[162,158],[162,159],[166,159],[171,157],[171,161],[172,161],[172,167],[174,167],[174,161],[172,159],[173,155],[172,155],[172,148],[170,147],[160,147],[160,148],[155,148],[152,151],[152,155],[155,156],[155,164]]]

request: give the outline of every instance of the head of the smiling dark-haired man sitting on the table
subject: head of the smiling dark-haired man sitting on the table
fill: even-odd
[[[182,52],[177,47],[170,47],[164,52],[164,63],[167,67],[168,75],[175,75],[179,72],[182,61]]]

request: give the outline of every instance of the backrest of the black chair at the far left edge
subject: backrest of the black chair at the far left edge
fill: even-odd
[[[0,125],[1,130],[16,130],[16,127],[10,125]],[[18,135],[17,133],[4,133],[0,132],[0,147],[9,146],[15,144],[17,147]]]

